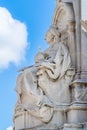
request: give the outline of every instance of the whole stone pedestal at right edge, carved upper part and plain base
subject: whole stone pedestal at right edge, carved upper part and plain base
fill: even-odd
[[[70,85],[71,105],[66,110],[63,130],[87,130],[87,81],[78,79]]]

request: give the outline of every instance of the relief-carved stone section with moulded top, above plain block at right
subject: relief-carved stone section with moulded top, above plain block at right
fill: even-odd
[[[71,86],[72,102],[87,103],[87,80],[75,80]]]

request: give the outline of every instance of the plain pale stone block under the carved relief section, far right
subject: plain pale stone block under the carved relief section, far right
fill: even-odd
[[[67,109],[68,123],[83,123],[87,122],[87,104],[73,103]]]

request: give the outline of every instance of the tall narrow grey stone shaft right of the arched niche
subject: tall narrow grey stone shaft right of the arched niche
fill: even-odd
[[[75,20],[76,20],[76,61],[77,61],[77,74],[76,78],[81,77],[81,0],[73,1]]]

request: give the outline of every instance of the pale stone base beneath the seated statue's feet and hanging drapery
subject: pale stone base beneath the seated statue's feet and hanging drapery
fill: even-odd
[[[49,123],[43,123],[38,118],[33,117],[28,111],[23,111],[15,115],[15,130],[58,130],[65,123],[65,114],[62,109],[55,109],[53,117]]]

